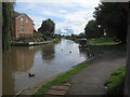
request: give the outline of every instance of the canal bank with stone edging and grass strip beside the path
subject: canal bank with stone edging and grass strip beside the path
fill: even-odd
[[[90,58],[89,60],[82,61],[75,67],[73,67],[70,70],[66,72],[58,73],[52,78],[47,79],[46,81],[42,81],[38,84],[36,84],[32,87],[28,87],[24,89],[23,92],[17,93],[17,95],[43,95],[51,86],[66,83],[70,81],[70,78],[81,71],[83,68],[91,65],[93,58]]]

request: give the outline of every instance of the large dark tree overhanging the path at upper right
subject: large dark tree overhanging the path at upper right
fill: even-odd
[[[127,37],[127,4],[119,2],[103,2],[95,8],[94,17],[109,37],[116,37],[122,43]]]

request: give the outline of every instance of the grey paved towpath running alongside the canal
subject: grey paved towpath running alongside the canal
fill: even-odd
[[[67,95],[104,95],[104,82],[116,69],[126,65],[126,50],[122,46],[102,46],[92,65],[72,79]]]

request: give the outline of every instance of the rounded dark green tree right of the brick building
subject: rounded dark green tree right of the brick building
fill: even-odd
[[[38,32],[41,32],[46,38],[52,37],[55,30],[55,23],[53,20],[46,19],[42,20],[41,27],[38,29]]]

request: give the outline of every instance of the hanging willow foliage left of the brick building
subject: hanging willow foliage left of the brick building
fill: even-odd
[[[8,51],[11,46],[11,37],[13,36],[13,8],[14,2],[2,2],[2,51]]]

